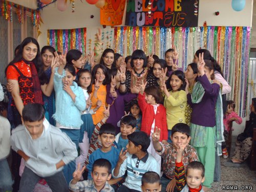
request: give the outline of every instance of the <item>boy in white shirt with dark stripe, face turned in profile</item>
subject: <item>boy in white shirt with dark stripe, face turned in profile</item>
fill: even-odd
[[[147,153],[150,138],[144,132],[134,132],[127,136],[127,150],[121,150],[116,167],[112,170],[114,178],[122,177],[127,170],[125,182],[118,191],[142,191],[141,178],[148,171],[160,175],[160,166],[156,159]],[[127,153],[128,152],[128,153]]]

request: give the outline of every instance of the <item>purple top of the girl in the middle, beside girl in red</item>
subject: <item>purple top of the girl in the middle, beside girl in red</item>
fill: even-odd
[[[117,122],[124,116],[124,104],[125,102],[130,102],[131,100],[137,98],[137,94],[132,94],[127,92],[121,94],[119,90],[116,90],[117,97],[112,97],[110,95],[110,84],[106,85],[106,103],[112,104],[110,106],[110,117],[106,120],[107,123],[111,123],[116,128],[116,134],[120,132],[120,127],[117,126]]]

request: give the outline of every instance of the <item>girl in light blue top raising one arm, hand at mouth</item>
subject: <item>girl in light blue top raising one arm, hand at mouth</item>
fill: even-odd
[[[86,100],[82,89],[74,82],[76,78],[75,68],[70,64],[66,65],[66,55],[58,57],[60,60],[59,67],[55,69],[54,74],[56,113],[53,114],[53,118],[56,120],[56,126],[65,132],[78,148],[80,127],[83,123],[81,112],[86,109]],[[74,171],[75,161],[63,168],[67,183],[73,178]]]

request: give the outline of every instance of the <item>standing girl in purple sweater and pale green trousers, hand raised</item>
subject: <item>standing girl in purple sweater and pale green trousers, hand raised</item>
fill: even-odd
[[[203,54],[199,54],[197,66],[198,82],[196,82],[192,94],[187,91],[187,102],[193,110],[190,124],[190,143],[196,148],[199,160],[205,167],[203,185],[211,187],[211,183],[214,181],[216,146],[221,150],[221,142],[223,141],[222,103],[220,86],[212,82],[214,80],[212,62],[210,60],[204,61]]]

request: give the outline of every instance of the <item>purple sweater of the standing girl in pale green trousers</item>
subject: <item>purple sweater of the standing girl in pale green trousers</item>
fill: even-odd
[[[205,93],[199,103],[191,102],[191,95],[187,94],[187,103],[192,108],[191,123],[214,127],[216,125],[215,105],[220,92],[217,83],[210,83],[207,76],[199,76],[197,79],[203,86]]]

